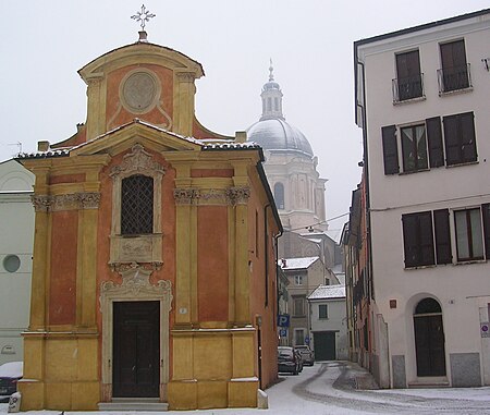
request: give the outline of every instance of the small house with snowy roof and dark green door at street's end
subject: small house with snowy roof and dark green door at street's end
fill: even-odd
[[[307,300],[315,359],[347,359],[345,285],[320,285]]]

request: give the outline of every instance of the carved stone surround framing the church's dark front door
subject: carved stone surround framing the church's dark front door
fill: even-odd
[[[169,382],[169,314],[172,305],[172,285],[168,280],[160,280],[156,285],[149,282],[152,269],[136,263],[121,265],[117,271],[122,283],[102,282],[100,288],[100,313],[102,315],[102,382],[101,403],[99,410],[117,402],[112,398],[112,342],[113,342],[113,303],[131,301],[160,302],[160,387],[159,402],[167,402],[167,385]],[[125,400],[127,401],[127,400]],[[140,400],[131,400],[135,403]],[[143,403],[143,402],[142,402]],[[107,408],[107,407],[106,407]],[[139,406],[142,411],[143,407]]]

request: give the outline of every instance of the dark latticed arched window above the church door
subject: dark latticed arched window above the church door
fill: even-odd
[[[154,179],[131,175],[121,184],[121,234],[154,232]]]

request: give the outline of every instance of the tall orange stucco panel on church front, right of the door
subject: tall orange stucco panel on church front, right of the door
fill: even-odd
[[[197,283],[200,321],[228,320],[228,207],[197,212]]]

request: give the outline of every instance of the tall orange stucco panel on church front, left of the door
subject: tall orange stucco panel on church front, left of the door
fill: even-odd
[[[52,213],[50,325],[75,324],[77,231],[76,210]]]

